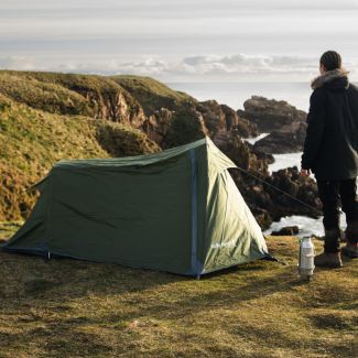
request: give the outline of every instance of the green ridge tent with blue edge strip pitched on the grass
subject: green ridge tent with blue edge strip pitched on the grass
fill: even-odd
[[[268,256],[208,139],[160,153],[59,161],[6,249],[200,275]]]

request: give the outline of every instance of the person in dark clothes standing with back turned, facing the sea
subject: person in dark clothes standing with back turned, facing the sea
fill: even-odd
[[[311,83],[301,174],[314,173],[323,205],[324,252],[315,257],[315,265],[340,268],[340,252],[358,257],[358,87],[349,83],[349,72],[335,51],[321,56],[319,72]],[[347,218],[344,248],[340,206]]]

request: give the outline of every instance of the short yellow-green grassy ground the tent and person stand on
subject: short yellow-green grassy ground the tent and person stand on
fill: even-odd
[[[0,237],[15,228],[1,225]],[[0,252],[0,357],[355,357],[358,261],[305,284],[297,240],[268,245],[286,265],[200,281]]]

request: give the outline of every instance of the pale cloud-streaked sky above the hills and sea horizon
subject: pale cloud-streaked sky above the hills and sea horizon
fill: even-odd
[[[358,80],[357,0],[0,0],[0,68],[164,82]]]

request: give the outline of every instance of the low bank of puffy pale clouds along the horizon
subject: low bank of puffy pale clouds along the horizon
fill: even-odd
[[[0,57],[0,68],[58,70],[65,73],[137,74],[162,80],[307,80],[317,75],[318,58],[299,55],[193,55],[180,61],[147,56],[140,61],[97,59],[46,63],[29,57]],[[357,61],[345,63],[356,76]]]

